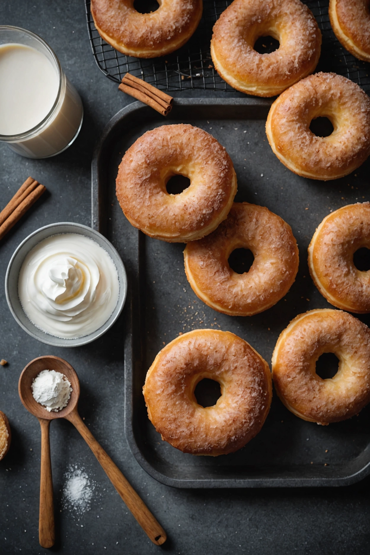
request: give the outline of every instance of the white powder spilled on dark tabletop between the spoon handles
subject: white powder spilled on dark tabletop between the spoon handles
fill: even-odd
[[[63,508],[73,509],[78,516],[90,510],[95,482],[83,468],[70,466],[64,475]]]

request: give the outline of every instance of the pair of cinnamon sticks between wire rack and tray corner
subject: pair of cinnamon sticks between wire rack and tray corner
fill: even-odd
[[[171,112],[174,99],[169,94],[130,73],[126,73],[118,88],[131,97],[141,100],[141,102],[154,108],[162,115],[167,115]]]

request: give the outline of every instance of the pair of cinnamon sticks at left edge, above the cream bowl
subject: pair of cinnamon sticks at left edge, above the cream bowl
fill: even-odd
[[[12,200],[0,212],[0,239],[26,214],[33,203],[44,193],[46,187],[29,177],[18,189]]]

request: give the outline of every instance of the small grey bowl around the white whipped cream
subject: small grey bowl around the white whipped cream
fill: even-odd
[[[18,297],[18,276],[19,271],[24,259],[30,250],[34,248],[40,241],[47,239],[51,235],[57,235],[60,233],[78,233],[84,235],[93,241],[96,241],[104,250],[107,251],[110,258],[113,260],[115,267],[118,271],[119,279],[119,297],[113,314],[110,315],[109,319],[105,324],[98,330],[94,331],[92,334],[84,335],[83,337],[78,337],[77,339],[62,339],[61,337],[55,337],[54,335],[49,335],[44,331],[38,329],[31,320],[28,319],[26,313],[24,312],[21,301]],[[127,293],[127,276],[126,270],[123,262],[115,250],[114,246],[109,243],[107,239],[98,231],[88,228],[86,225],[75,224],[70,222],[60,222],[58,224],[45,225],[43,228],[37,229],[31,235],[28,235],[26,239],[18,246],[16,251],[9,262],[7,273],[5,276],[5,294],[7,297],[7,302],[9,309],[11,310],[14,318],[17,320],[18,324],[27,331],[29,335],[32,335],[34,339],[38,339],[47,345],[53,345],[53,347],[78,347],[80,345],[86,345],[98,337],[105,334],[114,322],[118,319],[126,300]]]

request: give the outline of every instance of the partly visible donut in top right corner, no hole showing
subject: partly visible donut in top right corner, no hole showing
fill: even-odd
[[[370,62],[369,0],[330,0],[330,23],[338,41],[359,60]]]

